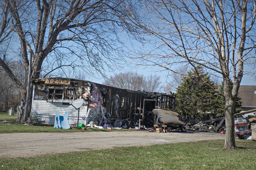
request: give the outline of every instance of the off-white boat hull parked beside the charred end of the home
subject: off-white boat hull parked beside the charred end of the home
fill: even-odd
[[[184,122],[180,121],[179,113],[171,109],[154,109],[152,110],[157,117],[162,116],[162,122],[165,124],[178,124],[185,125]]]

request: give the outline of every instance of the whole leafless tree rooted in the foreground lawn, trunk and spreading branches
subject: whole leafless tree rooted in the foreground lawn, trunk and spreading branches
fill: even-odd
[[[174,63],[200,65],[222,77],[224,94],[208,86],[225,100],[224,147],[236,148],[234,106],[243,74],[249,72],[244,65],[255,62],[255,0],[145,0],[141,7],[142,19],[130,19],[144,29],[143,37],[153,48],[140,57],[143,64],[173,72]]]

